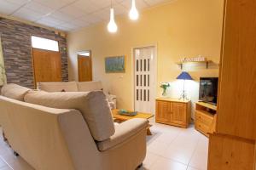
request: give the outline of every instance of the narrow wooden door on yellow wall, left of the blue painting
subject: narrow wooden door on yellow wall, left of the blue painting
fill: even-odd
[[[78,55],[79,82],[92,81],[91,57]]]

